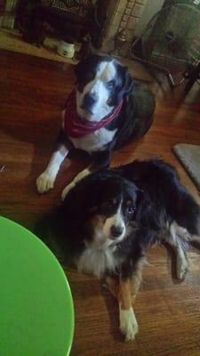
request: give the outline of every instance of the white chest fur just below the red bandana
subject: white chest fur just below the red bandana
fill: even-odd
[[[86,136],[75,139],[70,137],[71,142],[73,142],[76,149],[85,150],[91,153],[95,150],[104,150],[104,146],[109,142],[112,142],[116,130],[109,131],[102,127],[100,130],[95,131],[92,134],[87,134]]]

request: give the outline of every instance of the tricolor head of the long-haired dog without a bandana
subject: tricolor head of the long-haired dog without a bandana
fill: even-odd
[[[136,210],[137,188],[132,182],[111,177],[100,189],[98,206],[92,217],[93,238],[109,245],[116,245],[127,236],[127,228]],[[99,241],[98,239],[101,239]]]

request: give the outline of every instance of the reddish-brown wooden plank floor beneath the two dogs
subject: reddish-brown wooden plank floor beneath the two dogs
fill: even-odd
[[[63,187],[87,164],[82,157],[67,160],[55,189],[37,194],[36,177],[50,157],[60,111],[73,87],[73,67],[1,51],[0,69],[0,213],[32,229],[41,214],[60,203]],[[196,187],[172,154],[175,143],[200,144],[198,85],[185,99],[181,87],[164,93],[157,85],[151,86],[157,98],[155,123],[137,145],[116,152],[112,164],[164,158],[177,167],[181,181],[199,201]],[[134,306],[140,332],[129,343],[124,343],[118,331],[113,297],[98,280],[66,271],[76,309],[71,355],[200,355],[200,255],[190,250],[191,271],[181,283],[174,278],[170,255],[164,247],[148,253],[149,265]]]

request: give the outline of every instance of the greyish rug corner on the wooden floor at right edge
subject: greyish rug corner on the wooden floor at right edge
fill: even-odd
[[[200,190],[200,146],[179,143],[172,150]]]

